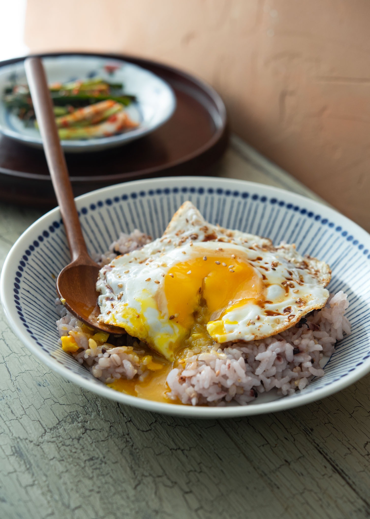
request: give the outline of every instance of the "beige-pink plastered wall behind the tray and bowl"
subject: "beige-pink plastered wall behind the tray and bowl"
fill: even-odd
[[[200,76],[233,131],[370,230],[369,26],[367,0],[28,0],[25,43]]]

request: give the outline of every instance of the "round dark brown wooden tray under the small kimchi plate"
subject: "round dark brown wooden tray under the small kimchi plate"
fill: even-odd
[[[60,56],[74,52],[40,54]],[[75,196],[93,189],[153,176],[207,174],[227,145],[225,106],[207,84],[173,67],[121,54],[78,54],[136,63],[167,81],[175,91],[173,117],[150,135],[104,152],[66,154]],[[0,66],[24,58],[0,62]],[[56,200],[44,152],[0,136],[0,200],[54,207]]]

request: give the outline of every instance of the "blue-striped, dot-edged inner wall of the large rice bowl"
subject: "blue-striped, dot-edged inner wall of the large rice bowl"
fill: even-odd
[[[124,191],[122,186],[118,189]],[[165,189],[117,193],[112,199],[98,200],[80,209],[90,254],[94,256],[107,250],[120,231],[129,233],[138,228],[154,238],[161,236],[185,200],[191,200],[211,223],[265,236],[274,243],[282,239],[296,243],[301,254],[316,256],[331,265],[333,277],[329,289],[347,292],[351,304],[347,317],[352,333],[338,343],[326,364],[325,376],[314,380],[304,390],[305,394],[346,377],[370,357],[370,312],[368,303],[361,297],[370,281],[369,251],[346,229],[304,207],[257,193],[180,184]],[[35,237],[19,258],[13,283],[14,304],[23,326],[39,348],[74,373],[100,384],[56,345],[55,276],[69,261],[64,226],[55,221],[42,231],[42,236]],[[35,305],[38,307],[36,316]],[[289,398],[299,397],[300,392],[296,392]]]

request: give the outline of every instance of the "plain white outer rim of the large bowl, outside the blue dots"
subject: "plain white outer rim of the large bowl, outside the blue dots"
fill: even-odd
[[[84,195],[81,195],[79,197],[76,197],[75,200],[77,202],[77,205],[79,205],[82,202],[86,203],[89,199],[94,199],[97,196],[101,196],[102,194],[107,194],[109,192],[116,192],[117,189],[125,188],[127,191],[130,191],[130,188],[135,188],[136,186],[143,187],[143,184],[148,183],[154,183],[154,184],[164,184],[167,185],[168,182],[184,182],[186,184],[194,183],[197,181],[201,181],[204,185],[209,184],[209,186],[215,187],[215,184],[218,183],[220,185],[223,184],[223,186],[227,186],[227,188],[232,188],[231,186],[239,186],[240,185],[245,186],[245,188],[249,188],[249,190],[261,190],[267,189],[267,191],[271,192],[271,194],[281,194],[281,196],[285,196],[288,198],[294,198],[296,200],[300,200],[301,202],[304,202],[305,204],[309,204],[309,206],[313,209],[316,208],[320,213],[326,213],[328,215],[332,215],[332,218],[336,218],[336,220],[343,222],[347,228],[353,229],[353,231],[358,235],[361,236],[364,241],[368,241],[370,244],[370,235],[358,224],[355,224],[352,222],[349,218],[342,215],[338,211],[332,209],[331,207],[324,206],[323,204],[317,202],[316,200],[312,200],[308,197],[298,195],[293,192],[289,192],[286,189],[282,189],[279,187],[266,185],[266,184],[259,184],[256,182],[249,182],[249,181],[243,181],[243,180],[236,180],[236,179],[224,179],[222,177],[209,177],[209,176],[200,176],[200,177],[192,177],[192,176],[181,176],[181,177],[159,177],[156,179],[143,179],[143,180],[137,180],[137,181],[131,181],[131,182],[124,182],[121,184],[103,187],[100,189],[96,189],[90,193],[86,193]],[[239,417],[239,416],[252,416],[252,415],[258,415],[258,414],[265,414],[270,412],[278,412],[278,411],[284,411],[286,409],[291,409],[293,407],[298,407],[301,405],[308,404],[310,402],[314,402],[317,400],[320,400],[322,398],[328,397],[331,394],[334,394],[341,389],[344,389],[354,382],[358,381],[360,378],[362,378],[364,375],[366,375],[368,372],[370,372],[370,358],[364,360],[363,364],[361,366],[355,367],[354,371],[351,373],[348,373],[343,378],[340,378],[337,381],[333,381],[328,386],[324,386],[323,388],[319,388],[317,391],[313,390],[308,392],[307,394],[304,394],[304,390],[301,391],[299,398],[292,398],[290,399],[288,397],[281,397],[277,400],[271,401],[271,402],[263,402],[261,404],[255,403],[253,405],[233,405],[233,406],[225,406],[225,407],[207,407],[207,406],[190,406],[190,405],[179,405],[179,404],[172,404],[172,403],[162,403],[162,402],[156,402],[151,400],[145,400],[141,399],[139,397],[134,397],[132,395],[128,395],[125,393],[121,393],[119,391],[115,391],[114,389],[109,388],[104,383],[97,384],[97,380],[88,380],[84,377],[81,377],[77,373],[74,373],[70,371],[67,367],[60,364],[58,361],[56,361],[53,357],[50,356],[49,353],[39,349],[34,345],[32,339],[27,336],[23,332],[23,330],[20,329],[18,326],[19,323],[15,320],[14,316],[12,315],[12,307],[13,302],[12,299],[10,299],[7,296],[6,292],[6,285],[7,285],[7,270],[12,267],[12,265],[15,264],[15,261],[20,256],[19,249],[21,249],[22,253],[24,250],[24,242],[29,241],[27,236],[30,234],[32,235],[34,232],[34,229],[38,228],[39,226],[44,227],[46,221],[49,220],[55,220],[55,218],[58,215],[58,219],[60,218],[60,210],[59,207],[56,207],[52,209],[51,211],[47,212],[46,214],[42,215],[36,222],[34,222],[30,227],[28,227],[22,235],[17,239],[17,241],[12,245],[6,260],[4,262],[4,266],[2,268],[1,272],[1,278],[0,278],[0,299],[5,311],[5,315],[8,319],[8,322],[10,324],[11,329],[15,334],[18,336],[18,338],[22,341],[22,343],[32,352],[35,354],[35,356],[41,360],[42,363],[46,364],[51,370],[54,372],[62,375],[64,378],[72,381],[73,383],[77,384],[78,386],[82,387],[83,389],[90,390],[96,394],[98,394],[100,397],[108,398],[109,400],[113,400],[116,402],[119,402],[124,405],[132,405],[134,407],[138,407],[141,409],[146,409],[147,411],[161,413],[161,414],[170,414],[173,416],[182,416],[182,417],[188,417],[188,418],[231,418],[231,417]],[[37,233],[38,234],[38,233]],[[27,245],[26,245],[27,247]],[[9,292],[8,292],[9,293]],[[9,301],[8,301],[9,299]],[[14,311],[16,313],[16,311]],[[56,316],[57,317],[57,316]]]

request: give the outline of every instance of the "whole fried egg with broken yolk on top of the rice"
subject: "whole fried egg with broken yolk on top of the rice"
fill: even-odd
[[[189,337],[246,342],[293,326],[325,305],[330,278],[294,244],[211,225],[187,201],[161,238],[101,269],[99,320],[173,360]]]

